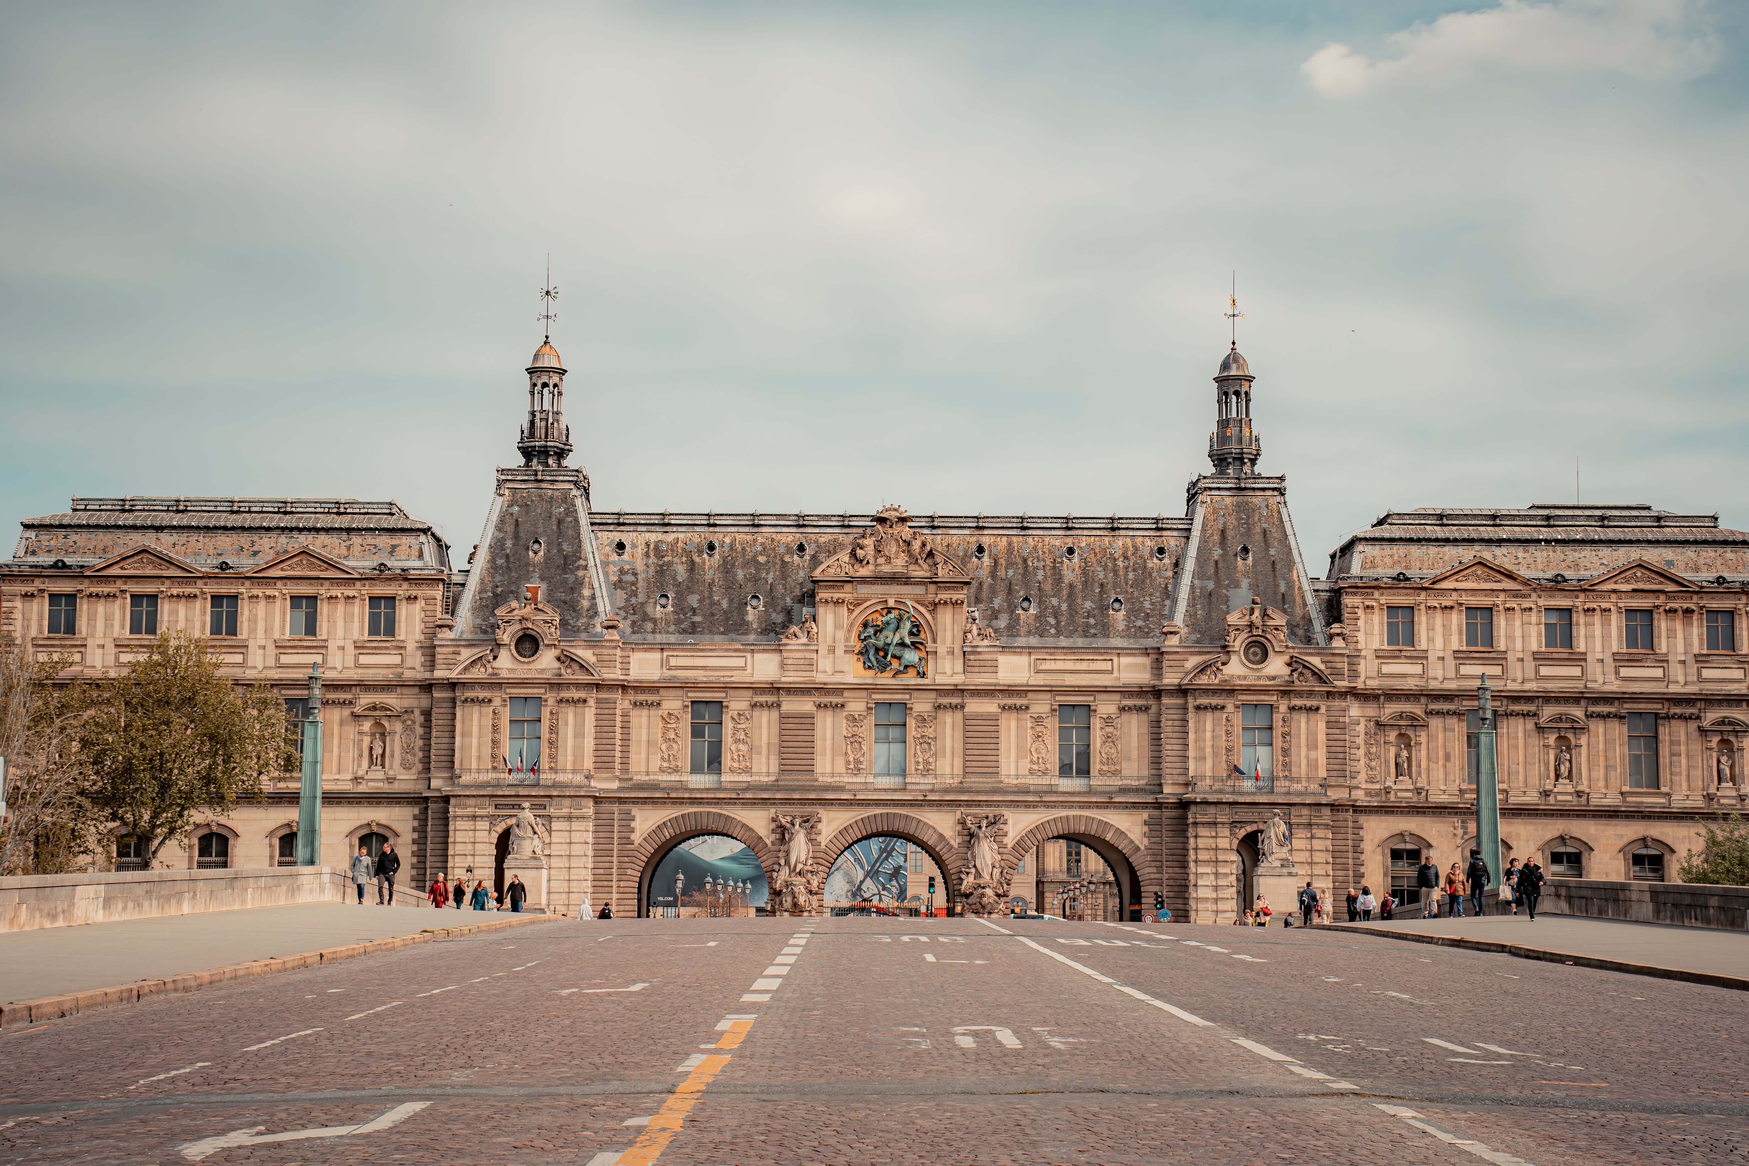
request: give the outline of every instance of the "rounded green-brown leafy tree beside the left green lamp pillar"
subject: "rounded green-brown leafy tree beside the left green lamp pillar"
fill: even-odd
[[[98,689],[79,743],[86,797],[140,839],[147,865],[199,811],[226,813],[259,797],[262,776],[297,767],[280,698],[231,684],[206,645],[185,635],[159,635]]]

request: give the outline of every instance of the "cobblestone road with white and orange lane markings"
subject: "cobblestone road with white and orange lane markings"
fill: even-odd
[[[553,921],[0,1035],[0,1163],[1749,1163],[1746,993],[1364,935]]]

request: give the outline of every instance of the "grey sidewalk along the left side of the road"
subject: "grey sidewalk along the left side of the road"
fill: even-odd
[[[549,916],[311,902],[0,933],[0,1005],[418,935]]]

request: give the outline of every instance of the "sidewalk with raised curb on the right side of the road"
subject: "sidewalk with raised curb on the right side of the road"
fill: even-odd
[[[1460,937],[1490,946],[1515,944],[1534,951],[1637,965],[1648,968],[1644,974],[1656,974],[1649,968],[1663,968],[1698,975],[1749,977],[1749,933],[1746,932],[1586,920],[1571,914],[1539,914],[1536,920],[1523,914],[1487,914],[1462,920],[1392,920],[1390,923],[1338,927],[1417,937]]]

